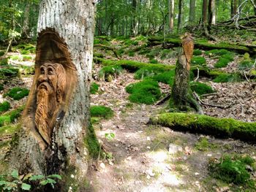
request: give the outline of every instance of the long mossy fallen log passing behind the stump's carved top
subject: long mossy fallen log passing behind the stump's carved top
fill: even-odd
[[[148,45],[162,45],[164,39],[162,37],[150,37],[148,38]],[[172,45],[173,47],[181,46],[180,39],[165,39],[165,43]],[[211,44],[209,42],[198,42],[195,40],[195,48],[203,50],[213,50],[213,49],[225,49],[235,51],[236,53],[251,53],[252,55],[256,54],[256,45],[243,45],[243,44],[224,44],[224,43],[215,43]]]

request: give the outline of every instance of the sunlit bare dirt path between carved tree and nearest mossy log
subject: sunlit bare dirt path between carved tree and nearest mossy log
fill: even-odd
[[[214,139],[148,125],[162,107],[129,104],[124,88],[134,81],[121,74],[115,82],[100,82],[105,91],[92,96],[92,104],[107,104],[116,115],[94,125],[108,159],[91,166],[94,191],[228,191],[208,176],[208,161],[224,153],[249,154],[256,159],[256,146],[232,139]],[[125,80],[125,81],[124,81]],[[119,100],[118,100],[119,99]],[[113,133],[108,140],[105,134]],[[208,145],[200,146],[206,137]]]

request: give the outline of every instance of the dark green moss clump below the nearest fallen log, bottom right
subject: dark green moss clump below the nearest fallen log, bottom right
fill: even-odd
[[[246,166],[252,166],[252,162],[254,160],[249,156],[224,155],[219,161],[210,161],[208,168],[213,177],[219,180],[227,183],[246,184],[250,181],[250,174]],[[253,181],[251,180],[251,182]]]

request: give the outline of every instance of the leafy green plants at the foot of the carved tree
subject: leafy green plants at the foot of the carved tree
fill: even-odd
[[[43,176],[41,174],[19,175],[18,170],[14,169],[10,175],[0,175],[1,191],[30,191],[31,188],[42,188],[44,185],[54,185],[56,180],[61,180],[61,175],[50,174]]]

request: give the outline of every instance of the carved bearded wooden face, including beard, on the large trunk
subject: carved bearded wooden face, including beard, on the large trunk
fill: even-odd
[[[40,66],[35,123],[39,134],[48,144],[63,107],[66,84],[66,72],[61,64],[45,63]]]

